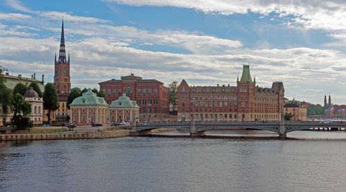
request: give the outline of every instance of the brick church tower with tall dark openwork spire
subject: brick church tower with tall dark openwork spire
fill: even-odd
[[[70,54],[69,59],[66,59],[65,37],[64,37],[64,20],[62,21],[62,36],[60,39],[59,57],[55,53],[55,73],[54,84],[57,88],[59,102],[66,102],[67,95],[71,91],[70,77]]]

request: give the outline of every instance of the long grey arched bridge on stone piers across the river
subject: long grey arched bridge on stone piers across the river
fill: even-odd
[[[319,122],[239,122],[239,121],[202,121],[202,122],[157,122],[148,124],[137,124],[132,126],[133,135],[148,135],[155,128],[176,128],[181,131],[190,132],[190,136],[199,137],[206,135],[206,131],[213,129],[230,128],[254,128],[271,131],[279,134],[279,138],[286,138],[286,133],[300,131],[308,128],[346,128],[346,122],[319,123]]]

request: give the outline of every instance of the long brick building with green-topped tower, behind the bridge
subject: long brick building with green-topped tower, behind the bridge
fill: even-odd
[[[237,86],[189,86],[183,80],[177,89],[178,121],[279,120],[284,104],[284,85],[256,86],[249,66],[243,66]]]

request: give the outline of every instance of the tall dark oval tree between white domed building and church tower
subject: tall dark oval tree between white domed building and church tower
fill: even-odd
[[[48,122],[51,123],[51,112],[59,108],[59,103],[57,102],[57,88],[54,84],[48,83],[44,86],[44,109],[48,110],[46,114],[48,117]]]

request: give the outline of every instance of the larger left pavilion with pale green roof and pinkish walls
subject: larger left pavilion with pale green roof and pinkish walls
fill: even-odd
[[[73,124],[79,126],[94,122],[108,124],[108,104],[89,89],[70,104],[70,118]]]

